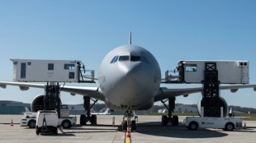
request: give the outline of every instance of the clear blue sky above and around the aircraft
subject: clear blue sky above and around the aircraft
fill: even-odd
[[[140,45],[154,54],[164,71],[178,60],[249,60],[256,84],[256,1],[0,1],[0,81],[12,81],[10,58],[82,60],[96,74],[117,46]],[[70,85],[70,84],[69,84]],[[77,84],[76,84],[77,85]],[[79,84],[87,85],[88,84]],[[97,86],[90,84],[89,86]],[[189,87],[200,85],[161,85]],[[0,88],[0,100],[31,103],[44,90]],[[256,108],[256,92],[221,91],[228,104]],[[64,104],[83,96],[62,93]],[[177,102],[197,104],[201,94]]]

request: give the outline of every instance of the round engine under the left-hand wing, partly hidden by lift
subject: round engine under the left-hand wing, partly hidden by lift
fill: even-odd
[[[44,109],[44,98],[45,94],[37,95],[31,104],[31,112],[37,112],[38,110],[43,110]],[[60,101],[61,104],[61,101]]]

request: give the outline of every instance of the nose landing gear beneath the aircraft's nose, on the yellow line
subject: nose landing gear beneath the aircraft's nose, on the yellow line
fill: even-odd
[[[131,120],[131,118],[133,118],[133,114],[131,112],[131,109],[127,109],[126,113],[124,114],[123,121],[121,122],[121,126],[118,127],[118,131],[126,131],[128,126],[131,128],[131,131],[137,130],[136,122],[138,122],[138,117],[135,116],[134,120]]]

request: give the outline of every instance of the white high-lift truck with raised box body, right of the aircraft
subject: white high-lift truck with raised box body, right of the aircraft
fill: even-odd
[[[226,118],[228,104],[220,97],[220,90],[224,90],[225,86],[220,84],[249,84],[249,61],[181,60],[173,71],[174,74],[178,73],[178,76],[169,72],[172,71],[165,72],[164,83],[202,85],[202,99],[197,104],[200,117],[184,119],[188,129],[222,128],[225,131],[233,131],[242,128],[242,119],[235,118],[232,111],[230,118]],[[230,91],[237,90],[234,86]]]

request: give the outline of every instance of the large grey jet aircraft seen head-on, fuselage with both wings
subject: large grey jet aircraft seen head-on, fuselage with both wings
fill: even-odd
[[[187,96],[203,90],[202,87],[176,89],[160,87],[159,63],[148,50],[131,43],[114,48],[107,53],[100,66],[98,79],[99,87],[64,85],[61,89],[72,95],[102,100],[111,110],[124,111],[147,110],[153,106],[154,102],[179,95]],[[7,85],[18,85],[21,90],[28,89],[27,87],[45,88],[44,84],[0,81],[2,88],[6,88]],[[220,90],[232,92],[239,88],[256,90],[256,85],[220,86]],[[174,101],[173,104],[175,104]]]

